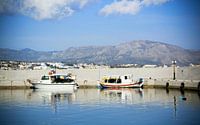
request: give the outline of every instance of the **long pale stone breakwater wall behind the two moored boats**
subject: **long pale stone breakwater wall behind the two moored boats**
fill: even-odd
[[[27,79],[38,81],[49,70],[0,70],[0,88],[30,88]],[[144,78],[145,87],[184,88],[199,90],[200,67],[177,67],[176,80],[173,68],[108,68],[108,69],[67,69],[57,73],[76,75],[77,83],[82,87],[95,87],[104,75],[133,74],[134,78]]]

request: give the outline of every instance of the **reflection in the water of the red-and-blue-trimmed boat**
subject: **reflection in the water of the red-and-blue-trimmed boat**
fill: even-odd
[[[104,100],[112,103],[134,104],[143,98],[143,89],[141,88],[107,88],[100,91]]]

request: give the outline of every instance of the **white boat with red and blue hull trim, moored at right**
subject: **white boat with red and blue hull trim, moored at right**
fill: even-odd
[[[101,88],[143,87],[143,78],[133,79],[133,75],[104,76],[99,82]]]

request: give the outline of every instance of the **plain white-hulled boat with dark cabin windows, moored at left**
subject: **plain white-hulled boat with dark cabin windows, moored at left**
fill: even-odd
[[[78,84],[75,82],[75,76],[51,72],[48,75],[43,75],[38,82],[30,83],[33,85],[33,88],[44,90],[71,90],[78,87]]]

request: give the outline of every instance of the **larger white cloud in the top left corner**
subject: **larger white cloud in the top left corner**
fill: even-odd
[[[72,15],[92,0],[1,0],[0,13],[20,13],[36,20]]]

